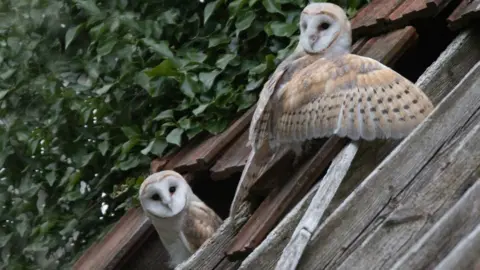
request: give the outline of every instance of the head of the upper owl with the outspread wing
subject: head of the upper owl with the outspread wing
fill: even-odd
[[[312,3],[300,15],[300,45],[310,54],[350,51],[352,34],[345,11],[331,3]]]

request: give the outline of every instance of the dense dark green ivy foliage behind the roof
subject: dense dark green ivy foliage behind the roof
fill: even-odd
[[[306,4],[0,1],[0,268],[71,267],[152,157],[254,104]]]

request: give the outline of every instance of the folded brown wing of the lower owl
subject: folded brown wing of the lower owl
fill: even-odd
[[[187,209],[183,234],[193,252],[220,227],[222,219],[200,200],[193,200]]]

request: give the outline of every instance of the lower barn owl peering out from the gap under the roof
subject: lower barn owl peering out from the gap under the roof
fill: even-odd
[[[139,199],[170,255],[171,267],[187,260],[222,223],[175,171],[147,177],[140,186]]]

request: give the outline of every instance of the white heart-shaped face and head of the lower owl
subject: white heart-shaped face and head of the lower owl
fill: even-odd
[[[140,186],[139,199],[145,213],[154,218],[169,218],[180,213],[192,189],[177,172],[165,170],[151,174]]]

